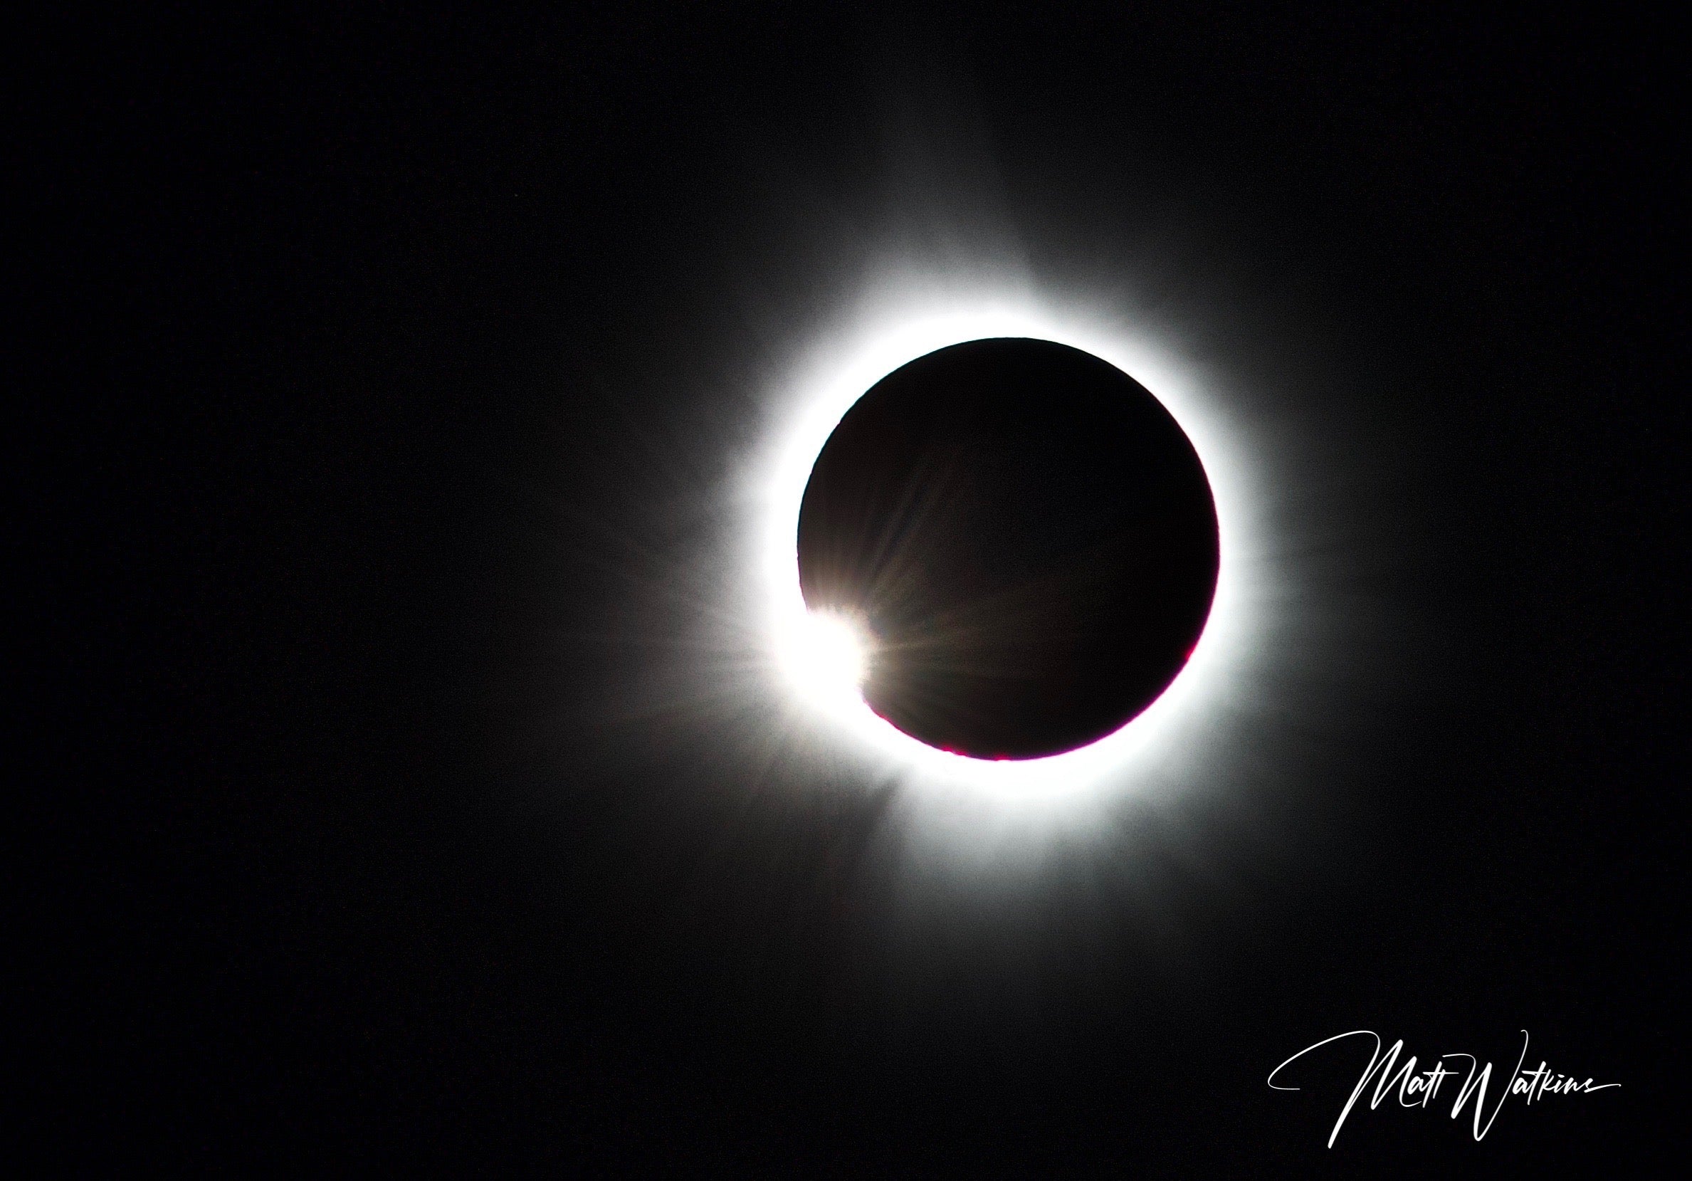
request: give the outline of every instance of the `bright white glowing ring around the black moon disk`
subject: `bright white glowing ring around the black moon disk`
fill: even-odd
[[[756,489],[756,574],[773,663],[787,670],[807,714],[849,750],[910,783],[968,785],[1029,802],[1074,792],[1132,788],[1156,772],[1206,763],[1227,716],[1247,692],[1261,604],[1271,590],[1252,506],[1261,503],[1249,448],[1179,359],[1137,340],[1125,325],[1047,311],[1032,298],[892,299],[854,332],[819,347],[773,421]],[[1090,746],[1036,760],[988,761],[934,750],[878,717],[843,678],[839,621],[816,621],[799,589],[799,504],[822,445],[841,416],[893,369],[924,354],[986,337],[1037,337],[1090,352],[1145,386],[1174,415],[1210,479],[1220,525],[1220,570],[1210,619],[1186,668],[1122,729]],[[1196,369],[1196,367],[1188,367]],[[1198,371],[1201,372],[1201,371]],[[819,655],[821,653],[821,655]],[[832,653],[832,655],[831,655]],[[827,670],[832,668],[832,675]]]

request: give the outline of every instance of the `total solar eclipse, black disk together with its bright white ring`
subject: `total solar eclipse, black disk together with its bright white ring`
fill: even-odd
[[[772,391],[770,450],[751,469],[760,481],[753,570],[772,668],[802,707],[794,721],[807,719],[802,728],[817,741],[873,775],[944,785],[944,799],[949,788],[976,797],[985,788],[1017,812],[1169,785],[1198,768],[1220,773],[1233,758],[1230,719],[1276,663],[1266,628],[1269,616],[1279,618],[1272,604],[1284,580],[1264,552],[1266,472],[1252,435],[1179,350],[1101,318],[1098,308],[1000,286],[993,296],[885,286],[876,313],[819,338]],[[978,384],[971,367],[1000,377]],[[1051,379],[1041,379],[1042,367]],[[997,418],[949,418],[949,399],[954,409],[968,406],[993,381]],[[873,442],[875,430],[863,447],[849,442],[858,431],[851,423],[868,428],[919,404],[927,404],[927,433],[897,438],[910,421],[883,423],[892,450]],[[1051,421],[1029,425],[1042,416]],[[1162,459],[1118,462],[1142,447]],[[856,470],[860,460],[868,467]],[[951,474],[941,477],[937,464],[948,462]],[[882,481],[885,496],[871,494]],[[892,484],[958,499],[954,519],[931,516],[920,536],[912,533]],[[966,484],[997,489],[983,492],[997,508],[983,503],[973,516],[956,516],[975,496]],[[839,526],[832,540],[834,526],[816,516],[824,497],[844,506],[844,516],[831,509]],[[1005,504],[1019,499],[1022,518],[1014,521]],[[1154,543],[1145,513],[1164,516],[1166,526],[1184,521],[1174,528],[1186,530],[1186,541],[1166,535]],[[900,519],[900,552],[885,550],[878,563],[865,531],[897,535]],[[936,553],[926,557],[931,545]],[[948,547],[949,572],[939,555]],[[1156,585],[1145,575],[1164,560],[1169,572],[1183,570],[1166,589],[1181,589],[1152,609],[1144,596]],[[1020,606],[986,612],[997,616],[990,621],[978,602],[973,638],[966,643],[953,628],[948,641],[958,616],[939,619],[936,611],[956,612],[971,597],[953,577],[971,563],[985,575],[976,587],[992,582],[986,597],[997,594],[1000,604],[1007,592],[1019,599],[1020,580]],[[1090,597],[1076,601],[1076,585],[1044,594],[1041,579],[1078,580]],[[905,609],[915,612],[888,614],[890,594],[907,596]],[[1051,604],[1044,618],[1042,601]],[[1154,623],[1157,611],[1162,623]],[[1164,633],[1161,651],[1147,646],[1156,631]],[[1064,709],[1046,707],[1042,695],[1063,699]]]

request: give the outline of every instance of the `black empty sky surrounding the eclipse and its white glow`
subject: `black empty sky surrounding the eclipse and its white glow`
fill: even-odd
[[[1667,41],[1626,5],[20,36],[14,1151],[1557,1176],[1656,1145]],[[1371,423],[1333,445],[1379,475],[1359,577],[1415,672],[1305,743],[1318,802],[1281,836],[1171,858],[1174,959],[1061,883],[959,904],[915,956],[875,917],[885,790],[748,794],[756,709],[641,714],[685,668],[665,604],[709,597],[672,579],[717,536],[699,489],[756,435],[724,276],[826,301],[854,215],[895,200],[865,196],[885,127],[934,93],[1012,220],[1074,218],[1078,254],[1113,217],[1164,227],[1159,274],[1296,308]],[[1276,396],[1294,435],[1355,418]],[[1264,1076],[1355,1027],[1499,1069],[1526,1027],[1623,1090],[1513,1105],[1482,1144],[1354,1113],[1327,1152],[1350,1068]]]

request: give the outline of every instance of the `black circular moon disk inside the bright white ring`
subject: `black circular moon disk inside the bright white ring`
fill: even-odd
[[[878,381],[799,509],[812,611],[871,634],[865,700],[975,758],[1120,729],[1205,629],[1217,508],[1169,411],[1049,340],[973,340]]]

